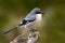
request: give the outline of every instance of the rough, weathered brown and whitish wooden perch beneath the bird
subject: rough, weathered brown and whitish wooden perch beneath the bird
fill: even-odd
[[[18,37],[16,37],[10,43],[38,43],[39,38],[40,38],[40,34],[38,31],[30,30],[28,38],[26,38],[23,33],[23,34],[20,34]]]

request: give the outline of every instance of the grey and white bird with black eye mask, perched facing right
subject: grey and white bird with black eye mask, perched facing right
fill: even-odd
[[[32,9],[27,14],[27,16],[25,16],[25,18],[23,20],[21,20],[20,25],[5,31],[4,34],[9,33],[20,27],[25,27],[26,29],[36,28],[36,26],[38,26],[40,24],[43,14],[44,14],[44,12],[42,12],[39,8]]]

